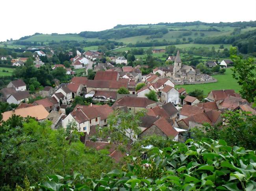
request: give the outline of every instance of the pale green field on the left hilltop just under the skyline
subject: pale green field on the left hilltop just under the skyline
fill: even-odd
[[[34,35],[31,36],[30,38],[24,39],[22,41],[36,41],[36,42],[50,42],[50,41],[56,41],[59,42],[61,40],[77,40],[77,41],[82,41],[85,40],[82,36],[79,35]]]

